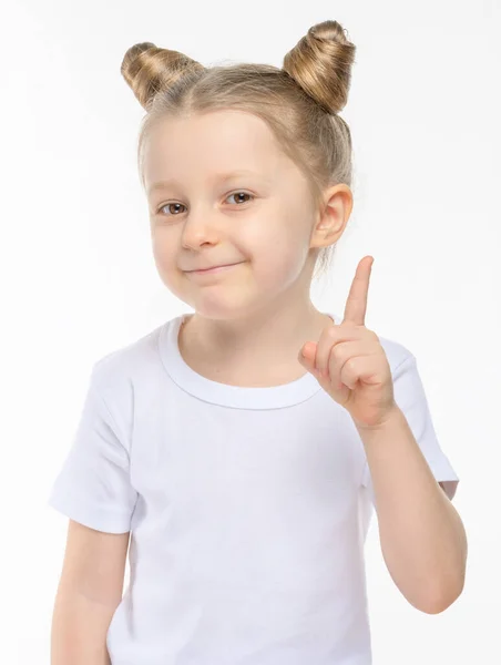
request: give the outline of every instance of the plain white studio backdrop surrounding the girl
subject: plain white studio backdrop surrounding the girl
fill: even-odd
[[[327,19],[357,47],[341,111],[355,207],[313,299],[342,315],[358,262],[375,257],[366,325],[418,359],[469,538],[462,595],[427,615],[392,582],[375,514],[366,544],[374,663],[501,663],[495,0],[2,4],[1,663],[50,662],[67,519],[47,500],[92,364],[192,310],[153,263],[135,161],[144,110],[120,74],[125,51],[153,41],[205,65],[282,66]]]

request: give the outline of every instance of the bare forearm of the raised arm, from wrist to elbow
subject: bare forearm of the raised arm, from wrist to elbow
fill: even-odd
[[[441,612],[464,584],[462,521],[433,478],[400,409],[379,429],[357,429],[372,478],[388,571],[415,607]]]

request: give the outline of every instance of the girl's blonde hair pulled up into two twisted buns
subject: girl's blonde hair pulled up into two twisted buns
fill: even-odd
[[[313,25],[285,55],[282,69],[258,63],[207,69],[178,51],[134,44],[121,73],[147,112],[137,145],[143,187],[143,144],[153,125],[167,116],[236,109],[268,124],[306,176],[319,209],[325,187],[351,186],[351,135],[338,113],[347,103],[355,50],[337,21]],[[320,249],[320,272],[328,268],[334,248]]]

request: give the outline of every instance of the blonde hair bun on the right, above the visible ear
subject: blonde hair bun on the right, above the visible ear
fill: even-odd
[[[313,25],[285,55],[283,70],[327,113],[348,101],[356,47],[337,21]]]

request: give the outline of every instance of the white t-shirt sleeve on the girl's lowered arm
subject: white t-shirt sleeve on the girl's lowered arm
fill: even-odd
[[[131,485],[122,430],[100,392],[94,366],[72,446],[52,485],[50,507],[98,531],[130,531],[137,493]]]

